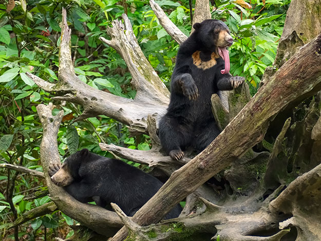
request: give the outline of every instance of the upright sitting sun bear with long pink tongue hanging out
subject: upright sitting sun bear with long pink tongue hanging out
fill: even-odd
[[[188,146],[198,152],[220,133],[211,108],[211,96],[244,82],[231,76],[226,47],[233,43],[230,30],[219,20],[205,20],[180,46],[172,75],[171,101],[159,124],[164,151],[173,159],[184,156]]]

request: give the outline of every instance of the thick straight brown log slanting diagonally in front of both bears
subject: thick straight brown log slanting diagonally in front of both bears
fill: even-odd
[[[138,225],[160,220],[182,198],[261,141],[275,114],[316,94],[321,89],[320,48],[321,34],[287,61],[202,153],[175,171],[132,220]],[[122,228],[112,240],[122,240],[126,234]]]

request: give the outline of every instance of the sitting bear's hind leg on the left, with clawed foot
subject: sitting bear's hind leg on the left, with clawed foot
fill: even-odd
[[[164,116],[159,123],[159,139],[165,152],[174,160],[183,158],[181,150],[191,143],[191,130],[181,125],[175,118]]]

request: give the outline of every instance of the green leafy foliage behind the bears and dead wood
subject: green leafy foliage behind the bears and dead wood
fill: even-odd
[[[187,36],[191,31],[188,1],[156,1],[168,17]],[[274,61],[277,41],[282,32],[287,1],[252,0],[252,8],[244,1],[211,1],[212,15],[226,21],[235,36],[230,48],[231,73],[247,78],[252,94],[256,91],[264,69]],[[75,73],[89,86],[114,95],[133,99],[136,90],[130,85],[127,66],[115,49],[103,44],[99,36],[108,38],[105,28],[111,21],[128,15],[146,58],[166,85],[169,84],[175,65],[178,44],[159,25],[148,1],[129,0],[67,0],[67,1],[2,1],[0,4],[0,163],[22,164],[29,169],[42,171],[40,142],[42,126],[36,105],[49,103],[52,95],[37,87],[26,76],[32,72],[40,78],[58,81],[58,51],[62,8],[67,9],[71,35],[72,58]],[[146,135],[130,137],[126,126],[106,116],[73,122],[82,112],[82,106],[55,102],[53,114],[64,110],[65,116],[58,133],[61,158],[87,148],[100,155],[99,142],[115,143],[131,149],[149,150]],[[135,166],[137,163],[128,162]],[[10,177],[14,176],[9,171]],[[12,209],[7,200],[8,171],[0,170],[0,218],[10,223]],[[48,196],[24,200],[34,189],[43,187],[43,180],[18,174],[13,188],[13,203],[17,215],[50,201]],[[72,235],[68,225],[75,221],[55,211],[20,226],[24,240],[44,236],[53,240],[53,229]],[[63,229],[65,231],[63,232]],[[5,228],[0,239],[13,238]]]

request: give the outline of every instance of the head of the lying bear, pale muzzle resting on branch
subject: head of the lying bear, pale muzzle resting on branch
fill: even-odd
[[[52,177],[51,181],[59,187],[65,187],[73,181],[80,180],[79,169],[83,161],[87,161],[90,152],[83,149],[70,155],[62,164],[58,172]]]

